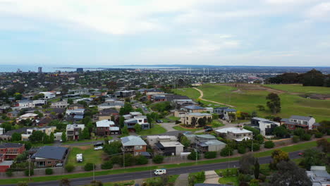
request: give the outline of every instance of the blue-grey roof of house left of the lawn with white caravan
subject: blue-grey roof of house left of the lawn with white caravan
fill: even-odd
[[[68,148],[66,147],[44,146],[44,147],[40,147],[40,149],[38,149],[37,152],[33,154],[31,157],[32,159],[39,157],[44,159],[62,160],[64,159],[67,150]]]

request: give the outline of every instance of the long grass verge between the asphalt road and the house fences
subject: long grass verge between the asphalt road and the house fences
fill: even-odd
[[[328,138],[327,140],[330,142],[330,138]],[[286,152],[291,152],[291,151],[309,149],[311,147],[316,147],[316,145],[317,145],[316,142],[306,142],[306,143],[302,143],[302,144],[294,144],[290,147],[281,147],[279,149],[282,149],[283,151],[286,151]],[[255,152],[254,154],[256,157],[270,156],[272,151],[274,151],[274,149],[269,150],[269,151],[263,151],[263,152]],[[226,162],[226,161],[237,161],[238,159],[240,159],[240,157],[198,161],[197,163],[189,162],[189,163],[167,164],[167,165],[159,165],[159,166],[142,166],[142,167],[136,167],[136,168],[96,171],[95,176],[119,174],[119,173],[133,173],[133,172],[138,172],[138,171],[150,171],[150,170],[157,169],[157,168],[180,168],[183,166],[195,166],[195,165],[204,165],[204,164],[210,164],[210,163],[221,163],[221,162]],[[262,167],[262,165],[260,165],[260,168],[261,167]],[[85,178],[85,177],[91,177],[92,175],[93,175],[92,172],[65,174],[65,175],[49,175],[49,176],[41,176],[41,177],[32,177],[32,181],[33,182],[44,182],[44,181],[51,181],[51,180],[61,180],[62,178],[68,178],[68,179]],[[16,184],[17,182],[22,182],[22,181],[27,181],[27,180],[28,180],[28,178],[1,179],[0,185]]]

